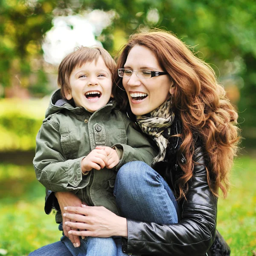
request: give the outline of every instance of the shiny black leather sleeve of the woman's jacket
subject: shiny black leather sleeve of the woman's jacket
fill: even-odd
[[[207,183],[203,154],[195,157],[194,174],[177,224],[145,223],[128,219],[123,251],[154,255],[201,256],[211,246],[216,228],[217,198]]]

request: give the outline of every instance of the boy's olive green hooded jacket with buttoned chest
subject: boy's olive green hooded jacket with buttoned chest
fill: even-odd
[[[36,137],[33,165],[37,179],[47,189],[73,191],[86,204],[104,206],[118,214],[113,196],[116,170],[137,160],[150,165],[157,152],[115,106],[112,101],[90,113],[61,99],[57,90]],[[92,169],[82,175],[81,160],[97,145],[119,148],[121,159],[115,169]]]

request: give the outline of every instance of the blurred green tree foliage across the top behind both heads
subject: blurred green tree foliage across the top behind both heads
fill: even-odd
[[[98,36],[110,52],[119,49],[135,30],[151,27],[171,30],[186,44],[195,46],[198,56],[212,64],[221,82],[227,85],[230,98],[236,92],[233,102],[238,104],[239,111],[246,110],[242,116],[247,125],[256,124],[252,115],[256,107],[256,2],[253,0],[2,0],[2,86],[18,83],[29,87],[33,94],[46,93],[41,49],[44,33],[52,27],[54,16],[90,9],[116,12],[111,26]]]

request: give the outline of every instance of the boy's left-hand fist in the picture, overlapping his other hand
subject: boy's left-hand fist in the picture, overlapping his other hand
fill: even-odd
[[[103,149],[93,149],[81,162],[82,172],[89,172],[93,168],[100,170],[108,164],[108,154]]]

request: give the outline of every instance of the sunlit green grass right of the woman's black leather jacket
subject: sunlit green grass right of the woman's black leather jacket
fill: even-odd
[[[232,255],[251,256],[256,250],[256,159],[236,160],[227,199],[218,202],[218,230],[224,235]]]

